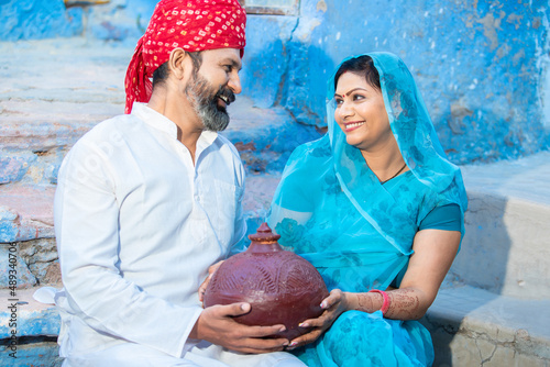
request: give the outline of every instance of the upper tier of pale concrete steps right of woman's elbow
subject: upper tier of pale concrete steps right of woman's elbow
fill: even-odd
[[[497,294],[550,299],[550,152],[462,173],[470,207],[452,273]]]

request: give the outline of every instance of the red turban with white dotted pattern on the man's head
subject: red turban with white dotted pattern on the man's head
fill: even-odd
[[[162,0],[145,34],[138,41],[125,78],[125,113],[134,101],[148,102],[150,78],[174,48],[188,52],[244,49],[246,13],[237,0]]]

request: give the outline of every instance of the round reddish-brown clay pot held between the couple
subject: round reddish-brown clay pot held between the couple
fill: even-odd
[[[302,257],[284,251],[267,223],[249,238],[249,249],[227,259],[210,279],[205,307],[249,302],[251,311],[235,321],[284,324],[286,331],[275,336],[289,341],[308,332],[298,324],[320,316],[320,303],[329,294],[321,275]]]

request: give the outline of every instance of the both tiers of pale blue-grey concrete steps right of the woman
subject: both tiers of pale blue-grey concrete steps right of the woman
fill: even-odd
[[[550,153],[462,166],[465,236],[422,320],[436,366],[550,366]]]

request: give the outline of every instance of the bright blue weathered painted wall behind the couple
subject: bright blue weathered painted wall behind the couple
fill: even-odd
[[[62,0],[0,0],[0,40],[81,34],[134,44],[155,3],[64,10]],[[249,15],[243,92],[322,129],[334,66],[388,51],[415,75],[452,160],[532,154],[550,143],[549,9],[540,0],[301,0],[299,16]]]

